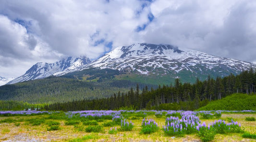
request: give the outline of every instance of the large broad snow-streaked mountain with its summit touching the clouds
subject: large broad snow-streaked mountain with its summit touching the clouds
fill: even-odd
[[[93,63],[79,67],[79,70],[90,67],[128,70],[147,75],[191,72],[227,76],[230,73],[237,74],[242,70],[256,68],[256,65],[195,50],[180,50],[177,46],[167,44],[139,43],[117,47]]]

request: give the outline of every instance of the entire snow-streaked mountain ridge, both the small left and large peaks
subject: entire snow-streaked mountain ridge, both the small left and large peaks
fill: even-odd
[[[37,63],[23,76],[8,82],[13,84],[48,76],[62,76],[88,68],[110,68],[122,72],[133,72],[142,76],[187,77],[187,80],[206,78],[208,75],[227,76],[243,70],[256,68],[256,65],[236,59],[208,55],[190,49],[179,49],[170,44],[136,43],[119,46],[102,55],[95,61],[89,58],[75,60],[74,57],[62,59],[52,64]],[[53,67],[55,66],[55,67]],[[57,66],[57,67],[56,67]]]

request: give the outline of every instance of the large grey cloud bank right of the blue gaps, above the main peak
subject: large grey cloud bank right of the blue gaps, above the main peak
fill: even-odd
[[[164,1],[151,6],[156,19],[146,29],[146,41],[256,61],[256,1]]]

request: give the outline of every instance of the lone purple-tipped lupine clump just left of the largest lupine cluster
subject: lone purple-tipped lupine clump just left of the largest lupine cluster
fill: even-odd
[[[158,124],[155,122],[155,120],[145,120],[145,118],[142,120],[141,124],[141,132],[144,134],[150,134],[152,132],[158,131]]]

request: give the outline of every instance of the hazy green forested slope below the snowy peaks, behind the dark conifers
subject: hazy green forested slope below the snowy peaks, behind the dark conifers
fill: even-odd
[[[136,82],[115,80],[119,72],[111,69],[88,69],[66,76],[25,81],[0,86],[0,100],[28,103],[51,103],[72,100],[108,98],[114,93],[127,92]],[[145,87],[145,84],[139,84]],[[147,85],[148,87],[155,87]]]

